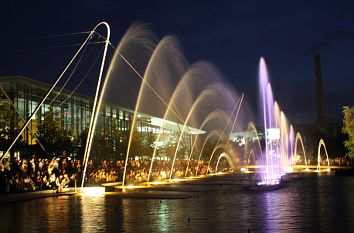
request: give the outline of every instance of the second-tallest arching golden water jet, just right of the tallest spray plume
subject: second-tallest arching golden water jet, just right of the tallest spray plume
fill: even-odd
[[[138,113],[143,112],[161,114],[161,109],[163,109],[163,107],[167,106],[168,110],[171,109],[169,99],[171,98],[171,95],[173,93],[173,88],[168,88],[168,84],[170,84],[169,81],[177,79],[181,75],[181,73],[183,73],[183,70],[186,69],[183,56],[181,54],[178,54],[179,50],[175,48],[175,43],[176,42],[174,42],[174,39],[172,37],[163,38],[154,49],[151,58],[147,64],[145,73],[143,75],[131,123],[131,130],[122,181],[123,187],[126,180],[125,177],[127,173],[128,159],[129,156],[131,156],[132,139],[134,136],[133,134],[134,129],[136,127]],[[171,56],[171,58],[170,56],[168,56],[169,54],[174,54],[174,56]],[[168,65],[172,65],[172,68],[170,68]],[[167,78],[167,80],[164,80],[163,82],[160,77]],[[181,116],[178,110],[179,109],[173,108],[172,113],[174,113],[175,117],[178,120],[181,120]],[[162,127],[163,126],[161,126],[161,128]]]

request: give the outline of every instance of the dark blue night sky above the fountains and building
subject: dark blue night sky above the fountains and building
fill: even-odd
[[[1,5],[0,76],[52,82],[70,57],[58,52],[43,60],[41,51],[30,51],[37,42],[22,39],[88,31],[107,21],[111,41],[118,44],[128,27],[140,21],[151,24],[159,37],[176,35],[190,63],[216,65],[252,106],[258,62],[264,56],[275,98],[291,122],[315,121],[316,53],[322,60],[328,121],[340,121],[342,106],[354,104],[352,1],[10,0]]]

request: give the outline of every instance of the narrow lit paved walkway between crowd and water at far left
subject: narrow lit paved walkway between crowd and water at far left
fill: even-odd
[[[64,189],[61,193],[55,193],[53,190],[44,190],[25,193],[0,194],[0,204],[74,194],[74,189],[69,188]]]

